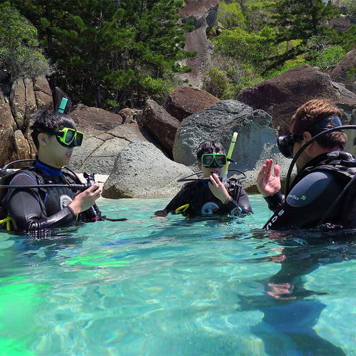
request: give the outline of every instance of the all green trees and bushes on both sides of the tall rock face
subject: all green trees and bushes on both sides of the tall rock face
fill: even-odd
[[[0,71],[46,74],[74,102],[98,107],[162,103],[179,84],[183,0],[0,0]],[[220,98],[309,63],[331,70],[356,48],[355,0],[221,0],[209,33],[214,63],[205,88]],[[354,80],[355,71],[350,74]]]

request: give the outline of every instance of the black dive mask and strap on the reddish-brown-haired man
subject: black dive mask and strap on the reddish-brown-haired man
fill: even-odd
[[[329,115],[313,124],[305,131],[311,133],[312,137],[316,134],[320,134],[323,131],[332,129],[334,127],[342,126],[341,120],[337,115]],[[341,131],[341,130],[340,130]],[[279,136],[277,138],[277,145],[280,153],[286,158],[293,158],[293,146],[295,142],[303,139],[303,134],[287,134],[285,136]]]

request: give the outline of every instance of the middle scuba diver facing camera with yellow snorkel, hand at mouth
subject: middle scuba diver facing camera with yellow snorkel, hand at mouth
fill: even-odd
[[[235,139],[231,141],[233,144],[236,136],[237,134],[234,134]],[[226,178],[232,150],[233,145],[226,155],[226,150],[220,141],[206,140],[200,143],[196,153],[197,165],[202,171],[199,174],[202,174],[205,179],[188,179],[195,174],[179,179],[178,181],[191,181],[185,183],[166,208],[156,211],[155,215],[165,217],[169,213],[182,213],[185,216],[252,214],[249,198],[240,180],[234,178],[225,180],[220,177]]]

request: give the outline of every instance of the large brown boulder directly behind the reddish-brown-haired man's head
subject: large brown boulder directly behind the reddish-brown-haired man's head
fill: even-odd
[[[273,128],[286,132],[297,108],[318,97],[348,105],[351,110],[356,104],[355,93],[333,83],[328,74],[308,64],[245,89],[237,100],[266,111],[273,117]]]

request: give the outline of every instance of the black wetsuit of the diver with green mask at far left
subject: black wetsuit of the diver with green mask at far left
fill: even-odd
[[[10,185],[78,183],[56,169],[36,161],[17,173]],[[2,200],[2,209],[11,218],[13,228],[35,232],[53,227],[69,226],[77,217],[68,204],[75,192],[67,187],[9,188]]]

